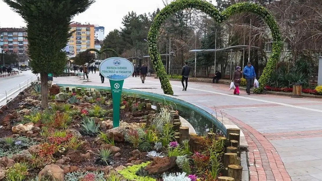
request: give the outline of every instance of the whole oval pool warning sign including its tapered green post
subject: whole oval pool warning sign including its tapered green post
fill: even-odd
[[[101,75],[109,79],[113,101],[113,128],[119,126],[120,99],[124,79],[130,77],[134,72],[133,64],[127,59],[112,57],[103,60],[99,65]]]

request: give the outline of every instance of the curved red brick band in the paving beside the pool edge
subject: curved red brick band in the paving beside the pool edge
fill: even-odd
[[[225,117],[243,131],[247,140],[250,181],[291,181],[276,149],[261,133],[228,114]]]

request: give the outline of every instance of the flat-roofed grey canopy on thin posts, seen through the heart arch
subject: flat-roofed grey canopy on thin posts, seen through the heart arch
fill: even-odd
[[[235,46],[230,46],[230,47],[226,47],[226,48],[222,48],[222,49],[196,49],[196,50],[189,50],[189,52],[214,52],[215,53],[215,58],[214,58],[214,66],[215,66],[215,70],[216,71],[216,52],[217,51],[230,51],[231,52],[231,60],[230,60],[230,70],[232,70],[232,51],[239,51],[239,50],[243,50],[243,57],[245,56],[245,48],[255,48],[255,49],[260,49],[259,47],[256,46],[250,46],[250,45],[235,45]],[[194,59],[194,76],[196,76],[196,62],[197,59]],[[243,65],[242,67],[244,67],[244,61],[243,61]],[[232,78],[232,71],[230,72],[230,78]]]

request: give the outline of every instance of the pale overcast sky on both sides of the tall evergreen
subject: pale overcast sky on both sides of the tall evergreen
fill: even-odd
[[[162,0],[96,0],[88,10],[75,16],[73,21],[104,26],[107,35],[122,26],[122,18],[129,11],[137,14],[152,13],[157,8],[163,7]],[[0,0],[0,12],[1,28],[19,28],[26,25],[20,15],[13,12],[2,0]]]

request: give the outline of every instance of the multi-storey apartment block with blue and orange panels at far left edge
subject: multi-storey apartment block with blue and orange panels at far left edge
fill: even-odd
[[[21,61],[28,60],[26,28],[0,28],[0,47],[8,53],[16,53]]]

